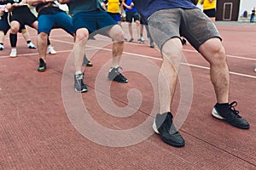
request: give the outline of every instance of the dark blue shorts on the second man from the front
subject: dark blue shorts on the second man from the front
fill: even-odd
[[[73,16],[73,26],[75,31],[79,28],[86,28],[89,33],[97,33],[108,36],[106,31],[117,25],[117,21],[104,11],[81,12]]]

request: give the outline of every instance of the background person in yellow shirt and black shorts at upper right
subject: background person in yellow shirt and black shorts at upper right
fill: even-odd
[[[215,13],[216,13],[216,0],[201,0],[203,5],[203,13],[215,23]]]

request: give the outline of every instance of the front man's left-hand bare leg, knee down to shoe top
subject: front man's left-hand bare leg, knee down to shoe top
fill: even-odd
[[[177,71],[182,58],[182,43],[179,38],[168,40],[162,47],[163,63],[160,67],[158,89],[160,114],[171,111],[173,94],[177,84]]]

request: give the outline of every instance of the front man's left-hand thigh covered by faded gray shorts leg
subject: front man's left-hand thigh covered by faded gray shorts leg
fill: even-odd
[[[181,13],[179,8],[163,9],[148,18],[148,28],[154,42],[161,49],[172,37],[180,37],[179,26]]]

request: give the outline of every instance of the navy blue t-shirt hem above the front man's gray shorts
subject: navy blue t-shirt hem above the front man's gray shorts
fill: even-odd
[[[160,9],[197,8],[190,0],[133,0],[133,3],[146,18]]]

